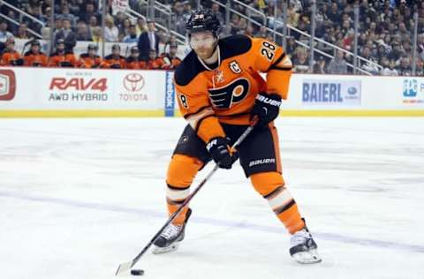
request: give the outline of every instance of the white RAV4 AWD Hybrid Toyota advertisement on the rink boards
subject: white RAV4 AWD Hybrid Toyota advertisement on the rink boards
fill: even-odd
[[[32,110],[40,116],[162,116],[165,83],[162,71],[13,68],[0,70],[2,89],[4,114]]]

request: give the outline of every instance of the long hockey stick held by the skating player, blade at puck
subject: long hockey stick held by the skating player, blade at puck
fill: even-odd
[[[247,135],[252,132],[252,130],[254,130],[254,125],[257,123],[257,118],[254,118],[254,120],[251,122],[251,124],[246,128],[246,131],[243,132],[240,136],[239,139],[236,140],[236,142],[232,145],[231,147],[231,151],[234,151],[236,149],[236,147],[238,147],[240,145],[240,143],[246,139]],[[177,211],[170,216],[170,219],[168,219],[167,222],[165,222],[165,224],[163,225],[163,227],[158,230],[155,234],[155,237],[153,237],[150,242],[148,243],[148,245],[146,245],[143,250],[141,250],[141,252],[133,259],[124,263],[121,263],[119,265],[119,267],[117,267],[117,273],[115,275],[120,275],[125,273],[126,271],[130,270],[131,268],[133,268],[133,266],[137,263],[137,261],[140,260],[140,258],[148,251],[148,248],[150,248],[151,245],[153,245],[153,243],[155,242],[156,238],[158,238],[162,231],[165,230],[165,228],[170,224],[170,222],[174,221],[174,219],[177,217],[177,215],[183,210],[184,207],[186,207],[186,205],[190,202],[190,200],[193,199],[193,197],[196,195],[197,192],[199,192],[201,190],[201,187],[203,187],[203,185],[205,185],[208,180],[210,179],[210,177],[212,177],[214,175],[214,173],[216,172],[216,170],[219,169],[218,164],[215,165],[214,169],[211,170],[208,174],[208,176],[206,176],[205,178],[203,178],[203,180],[201,181],[201,183],[197,186],[196,189],[194,189],[194,191],[187,197],[187,199],[183,202],[183,204],[181,204],[180,207],[178,207]]]

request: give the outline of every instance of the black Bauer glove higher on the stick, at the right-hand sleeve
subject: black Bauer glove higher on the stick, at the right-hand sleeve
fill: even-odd
[[[281,96],[279,94],[267,94],[261,92],[256,96],[254,108],[250,112],[250,118],[258,117],[257,125],[264,126],[278,117],[280,112]]]

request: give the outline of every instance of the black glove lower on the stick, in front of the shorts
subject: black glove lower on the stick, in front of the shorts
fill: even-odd
[[[223,137],[210,139],[206,145],[206,149],[208,149],[212,159],[222,169],[230,170],[232,163],[239,159],[239,153],[234,152],[230,154],[229,140]]]

